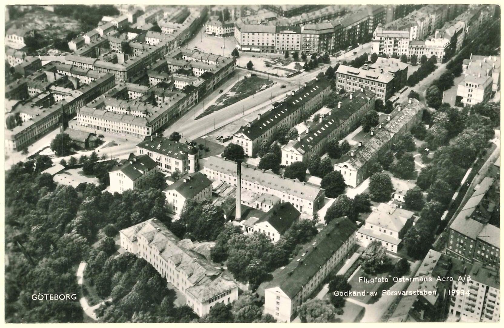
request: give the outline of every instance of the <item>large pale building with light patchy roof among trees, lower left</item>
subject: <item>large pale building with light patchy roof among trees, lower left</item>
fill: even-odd
[[[217,303],[238,298],[238,284],[198,253],[200,244],[180,240],[156,218],[119,231],[121,247],[145,259],[204,316]]]

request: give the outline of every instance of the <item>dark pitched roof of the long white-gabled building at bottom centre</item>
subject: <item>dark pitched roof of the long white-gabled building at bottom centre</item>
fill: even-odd
[[[304,245],[267,288],[280,287],[292,299],[356,229],[357,225],[346,216],[332,220]]]

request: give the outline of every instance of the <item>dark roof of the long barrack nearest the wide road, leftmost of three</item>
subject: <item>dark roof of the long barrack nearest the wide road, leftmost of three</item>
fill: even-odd
[[[329,88],[329,85],[329,81],[325,78],[309,81],[306,87],[302,87],[295,91],[294,96],[287,97],[282,102],[282,105],[270,109],[261,115],[261,119],[252,122],[251,127],[248,127],[248,125],[242,126],[234,134],[243,133],[250,140],[258,138],[280,122],[285,116],[290,115],[299,106],[302,106],[304,103]]]

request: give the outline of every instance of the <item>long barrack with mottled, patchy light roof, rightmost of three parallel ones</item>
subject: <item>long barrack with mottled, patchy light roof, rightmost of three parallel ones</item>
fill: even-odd
[[[338,160],[334,169],[343,175],[347,186],[355,188],[369,177],[371,163],[421,122],[423,109],[424,106],[416,99],[398,105],[386,120],[371,129],[369,135]]]

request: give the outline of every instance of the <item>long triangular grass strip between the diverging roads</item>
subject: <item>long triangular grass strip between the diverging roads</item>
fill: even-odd
[[[250,76],[238,81],[231,90],[220,96],[215,105],[209,106],[206,111],[216,112],[226,106],[232,105],[250,96],[254,96],[259,91],[267,89],[273,85],[272,80],[258,76]]]

